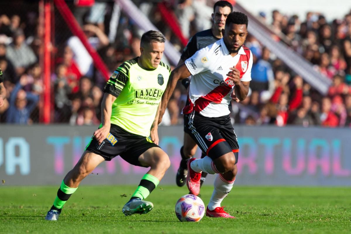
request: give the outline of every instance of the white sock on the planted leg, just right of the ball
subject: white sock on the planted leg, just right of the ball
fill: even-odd
[[[216,175],[216,179],[214,179],[213,183],[213,193],[210,203],[208,203],[209,210],[214,210],[216,207],[220,207],[220,203],[228,195],[230,190],[232,190],[234,181],[235,179],[232,181],[227,181],[223,178],[223,174]]]

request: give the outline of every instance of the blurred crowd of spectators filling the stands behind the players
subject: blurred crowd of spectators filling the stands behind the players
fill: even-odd
[[[133,2],[181,52],[184,46],[157,8],[160,1]],[[114,1],[67,1],[67,4],[110,72],[140,55],[143,31],[123,11],[119,11],[117,22],[111,20],[116,12]],[[39,17],[38,2],[6,1],[0,6],[0,68],[7,88],[0,122],[40,123],[44,24]],[[165,6],[177,18],[186,38],[211,28],[213,1],[166,1]],[[106,80],[94,68],[91,56],[57,9],[54,13],[51,123],[97,125]],[[351,9],[340,9],[340,18],[332,21],[319,12],[308,12],[304,19],[288,9],[270,13],[272,18],[267,18],[268,12],[255,16],[311,62],[314,69],[331,79],[332,85],[327,95],[318,93],[249,34],[245,45],[254,55],[250,93],[244,101],[233,101],[230,107],[233,124],[351,127]],[[166,58],[164,61],[168,63]],[[186,96],[187,90],[180,84],[161,124],[183,123],[181,109]]]

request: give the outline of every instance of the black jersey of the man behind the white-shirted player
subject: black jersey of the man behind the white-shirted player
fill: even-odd
[[[180,56],[181,60],[187,60],[188,58],[193,56],[199,49],[205,48],[206,46],[213,44],[219,39],[220,38],[216,38],[212,34],[211,29],[207,29],[205,31],[196,33],[192,36],[192,38],[190,38],[188,44],[184,48],[183,53]]]

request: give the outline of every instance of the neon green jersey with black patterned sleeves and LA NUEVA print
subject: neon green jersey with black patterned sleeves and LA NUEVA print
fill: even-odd
[[[111,123],[127,132],[150,136],[170,72],[163,62],[156,69],[145,70],[138,65],[138,57],[122,63],[104,87],[104,92],[117,97],[112,104]]]

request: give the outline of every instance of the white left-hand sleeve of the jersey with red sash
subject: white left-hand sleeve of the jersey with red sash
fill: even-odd
[[[188,68],[192,75],[205,72],[209,69],[211,60],[208,56],[208,48],[202,48],[197,51],[193,56],[185,60],[185,66]]]

